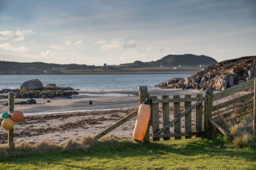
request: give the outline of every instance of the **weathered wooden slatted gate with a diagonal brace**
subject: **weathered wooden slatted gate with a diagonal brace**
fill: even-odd
[[[159,141],[160,138],[168,140],[171,137],[175,139],[181,139],[182,136],[185,138],[191,138],[191,136],[202,136],[203,134],[203,101],[202,94],[196,94],[196,97],[191,97],[190,94],[184,97],[173,96],[169,99],[169,96],[162,96],[158,99],[157,96],[151,96],[152,101],[152,138],[153,141]],[[184,103],[184,111],[180,111],[180,103]],[[162,117],[163,124],[160,128],[159,120],[159,104],[162,105]],[[170,107],[170,105],[173,105]],[[170,108],[173,108],[173,120],[170,121]],[[195,129],[192,131],[191,124],[191,111],[195,109]],[[181,121],[184,118],[184,132],[181,131]],[[173,126],[174,131],[170,132],[170,127]]]

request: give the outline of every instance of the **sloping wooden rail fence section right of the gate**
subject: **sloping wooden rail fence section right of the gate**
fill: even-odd
[[[253,117],[253,134],[256,135],[256,80],[241,83],[229,89],[212,94],[211,121],[223,123],[222,127],[225,136],[230,136],[227,122],[239,120],[244,115]]]

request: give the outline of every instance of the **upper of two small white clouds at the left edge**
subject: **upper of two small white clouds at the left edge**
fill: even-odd
[[[25,36],[28,34],[34,34],[35,32],[31,29],[29,30],[17,30],[17,31],[0,31],[0,39],[10,39],[13,38],[13,41],[23,41]]]

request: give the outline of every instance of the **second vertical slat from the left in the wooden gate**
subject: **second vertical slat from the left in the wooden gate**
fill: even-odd
[[[166,99],[168,100],[169,99],[169,96],[162,96],[162,99]],[[170,108],[169,108],[169,103],[163,103],[163,107],[162,107],[162,110],[163,110],[163,126],[165,124],[167,124],[168,122],[170,122]],[[170,127],[168,129],[166,129],[164,132],[164,134],[170,134]],[[170,140],[170,138],[163,138],[164,141],[168,141]]]

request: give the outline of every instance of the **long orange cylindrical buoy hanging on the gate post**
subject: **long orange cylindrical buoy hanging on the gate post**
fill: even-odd
[[[140,105],[138,115],[136,118],[134,130],[132,134],[133,139],[135,139],[136,141],[143,140],[145,133],[147,131],[150,113],[151,113],[151,107],[147,99],[143,104]]]

